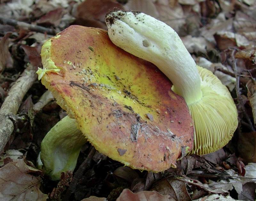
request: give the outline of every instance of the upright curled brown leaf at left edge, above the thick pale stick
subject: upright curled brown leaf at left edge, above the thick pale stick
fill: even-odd
[[[0,74],[4,71],[6,66],[12,66],[12,57],[9,52],[9,36],[12,33],[6,33],[0,41]]]

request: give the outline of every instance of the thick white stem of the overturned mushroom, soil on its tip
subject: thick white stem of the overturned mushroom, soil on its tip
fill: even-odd
[[[113,11],[106,18],[110,40],[125,51],[154,63],[173,83],[187,104],[202,97],[194,59],[178,34],[144,13]]]

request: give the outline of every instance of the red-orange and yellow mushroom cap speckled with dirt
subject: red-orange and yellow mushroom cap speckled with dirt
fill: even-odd
[[[106,31],[70,26],[44,43],[41,56],[42,83],[100,153],[159,172],[191,151],[184,99],[155,65],[118,48]]]

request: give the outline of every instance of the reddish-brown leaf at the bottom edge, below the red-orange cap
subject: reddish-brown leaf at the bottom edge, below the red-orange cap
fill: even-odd
[[[171,196],[163,196],[156,191],[140,191],[133,193],[129,189],[124,189],[116,201],[175,201]]]

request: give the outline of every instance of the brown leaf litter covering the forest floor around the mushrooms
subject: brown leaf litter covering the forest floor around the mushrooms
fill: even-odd
[[[172,26],[182,36],[197,64],[212,71],[228,87],[237,105],[240,123],[234,138],[223,149],[202,157],[186,156],[178,161],[176,169],[170,168],[164,173],[140,172],[123,167],[96,152],[91,166],[79,179],[69,199],[254,200],[255,1],[87,0],[80,3],[13,0],[2,2],[0,16],[37,24],[43,30],[49,28],[57,33],[72,24],[106,29],[105,14],[114,7],[143,11]],[[24,24],[0,23],[1,99],[8,95],[27,63],[36,68],[41,66],[40,48],[49,37],[51,35],[39,30],[31,31]],[[25,95],[24,102],[29,96],[34,104],[32,108],[39,109],[33,111],[29,106],[18,114],[22,114],[23,120],[17,124],[15,133],[0,155],[1,200],[25,200],[26,196],[28,200],[46,200],[47,197],[50,200],[65,199],[72,175],[63,174],[57,184],[31,166],[36,164],[44,135],[66,114],[37,81]],[[35,118],[30,118],[31,111]],[[145,115],[153,121],[150,114]],[[27,124],[29,121],[32,121],[31,127]],[[24,143],[20,142],[22,139]],[[84,145],[75,172],[89,154],[90,147],[90,144]]]

